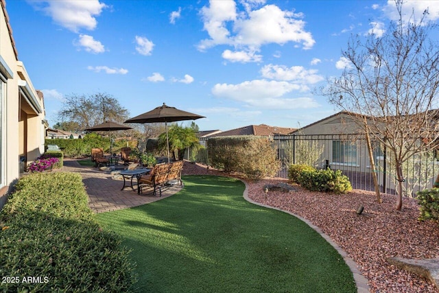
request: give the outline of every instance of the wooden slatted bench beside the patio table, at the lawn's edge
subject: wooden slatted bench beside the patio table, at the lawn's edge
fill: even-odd
[[[163,163],[155,165],[150,174],[141,175],[138,180],[137,194],[142,194],[143,187],[152,187],[152,195],[157,194],[157,189],[162,196],[162,188],[169,185],[169,181],[177,180],[182,187],[181,172],[183,169],[183,161],[173,163]]]

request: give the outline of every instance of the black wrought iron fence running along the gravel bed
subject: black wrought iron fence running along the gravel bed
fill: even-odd
[[[360,134],[294,134],[274,137],[281,169],[278,176],[287,178],[291,164],[306,164],[319,169],[340,169],[355,189],[374,191],[372,169],[366,141]],[[373,157],[381,192],[396,194],[394,158],[379,141],[372,141]],[[433,152],[412,156],[403,164],[405,196],[431,188],[439,162]]]

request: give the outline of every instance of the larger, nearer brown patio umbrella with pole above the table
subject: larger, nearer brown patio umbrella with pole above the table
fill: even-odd
[[[125,121],[124,123],[157,123],[157,122],[165,122],[166,128],[166,143],[167,143],[167,161],[169,163],[169,139],[167,136],[167,123],[168,122],[176,122],[183,120],[195,120],[199,118],[205,118],[204,116],[200,116],[197,114],[189,113],[183,110],[179,110],[175,107],[166,106],[163,103],[163,106],[158,106],[153,110],[150,110],[147,113],[143,113],[139,116],[133,117]]]

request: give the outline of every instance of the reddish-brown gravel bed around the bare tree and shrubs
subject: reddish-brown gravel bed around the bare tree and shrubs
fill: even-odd
[[[185,175],[230,176],[203,165],[185,163]],[[405,198],[403,210],[396,211],[395,196],[383,194],[378,204],[375,194],[354,189],[345,195],[298,191],[269,191],[263,186],[282,178],[248,183],[248,196],[262,204],[300,215],[322,229],[357,263],[368,279],[371,292],[439,292],[433,283],[388,263],[389,257],[413,259],[439,257],[438,223],[418,221],[418,204]],[[364,212],[357,215],[359,204]]]

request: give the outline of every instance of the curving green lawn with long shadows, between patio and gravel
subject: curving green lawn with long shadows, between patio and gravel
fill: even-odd
[[[246,202],[234,178],[97,215],[132,249],[139,292],[356,292],[342,257],[297,218]]]

